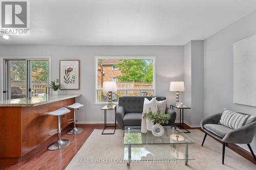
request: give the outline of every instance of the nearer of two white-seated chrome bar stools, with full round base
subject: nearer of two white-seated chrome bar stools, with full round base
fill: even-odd
[[[58,141],[51,143],[47,147],[48,150],[51,150],[51,151],[60,150],[62,148],[67,147],[67,145],[70,144],[70,141],[68,139],[61,139],[61,127],[60,127],[61,126],[61,116],[63,116],[64,114],[67,114],[69,112],[70,112],[69,109],[62,107],[62,108],[59,108],[58,110],[54,110],[52,112],[45,113],[47,115],[58,116],[58,129],[50,131],[50,133],[55,131],[55,133],[52,133],[52,134],[58,133]]]

